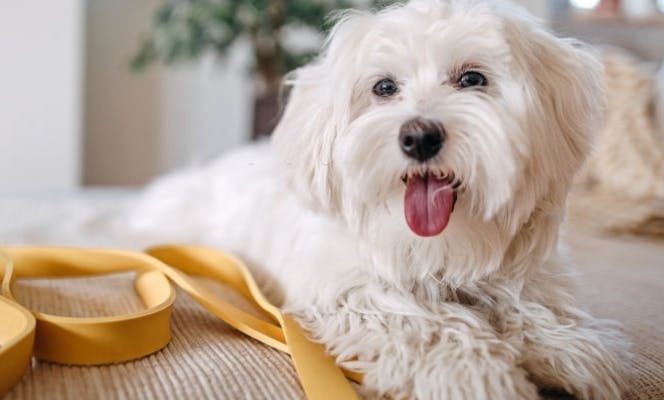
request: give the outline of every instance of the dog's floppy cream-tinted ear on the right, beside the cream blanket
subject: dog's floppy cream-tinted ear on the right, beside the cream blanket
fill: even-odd
[[[531,159],[513,199],[517,207],[503,215],[517,230],[508,257],[526,268],[556,245],[572,181],[602,127],[603,67],[592,50],[527,19],[508,17],[505,30],[530,103],[525,130]]]

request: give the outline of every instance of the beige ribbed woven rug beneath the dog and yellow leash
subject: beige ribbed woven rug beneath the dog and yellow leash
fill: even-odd
[[[625,398],[664,399],[664,242],[574,233],[568,243],[581,274],[581,301],[597,316],[620,320],[634,340],[633,389]],[[35,309],[76,316],[140,307],[126,274],[23,281],[17,292]],[[166,349],[125,364],[34,362],[6,400],[302,398],[288,356],[235,333],[181,292],[172,332]]]

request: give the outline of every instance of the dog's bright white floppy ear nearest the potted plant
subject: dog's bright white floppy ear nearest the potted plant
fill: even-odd
[[[334,142],[348,126],[356,85],[357,47],[368,14],[339,15],[321,55],[287,78],[291,86],[273,143],[287,178],[303,200],[317,211],[339,207],[339,181],[333,161]]]

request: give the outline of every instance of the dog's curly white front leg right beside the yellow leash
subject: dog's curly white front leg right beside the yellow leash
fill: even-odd
[[[376,290],[380,290],[376,292]],[[378,295],[377,295],[378,294]],[[364,391],[417,399],[536,399],[518,350],[461,304],[423,308],[410,293],[362,286],[334,306],[293,310]]]

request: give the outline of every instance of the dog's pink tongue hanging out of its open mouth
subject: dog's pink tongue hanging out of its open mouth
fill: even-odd
[[[436,236],[445,229],[454,208],[454,189],[431,175],[408,179],[404,211],[410,229],[419,236]]]

